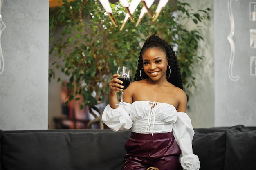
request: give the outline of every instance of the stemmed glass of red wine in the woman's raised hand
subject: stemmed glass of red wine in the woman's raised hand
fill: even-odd
[[[123,84],[120,84],[120,85],[124,86],[124,88],[121,94],[121,101],[116,105],[126,105],[123,102],[123,98],[124,98],[124,90],[127,89],[127,87],[130,85],[130,82],[131,82],[130,69],[129,67],[126,67],[126,66],[118,67],[117,74],[120,75],[120,77],[117,77],[117,78],[123,81]]]

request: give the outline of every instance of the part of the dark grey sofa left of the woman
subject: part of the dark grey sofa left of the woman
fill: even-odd
[[[129,130],[5,131],[2,169],[120,170],[129,137]]]

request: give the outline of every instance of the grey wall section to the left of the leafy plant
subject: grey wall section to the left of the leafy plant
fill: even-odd
[[[3,0],[0,129],[48,128],[49,0]]]

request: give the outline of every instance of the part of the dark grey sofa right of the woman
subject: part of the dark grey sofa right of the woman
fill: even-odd
[[[194,129],[200,170],[256,170],[256,127]]]

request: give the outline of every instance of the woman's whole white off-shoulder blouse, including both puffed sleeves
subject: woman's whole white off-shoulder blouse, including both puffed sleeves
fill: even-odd
[[[177,112],[168,103],[135,101],[126,106],[112,109],[107,105],[103,111],[102,121],[111,130],[131,129],[142,134],[172,132],[180,146],[180,163],[184,170],[199,170],[200,161],[193,154],[192,139],[194,130],[191,119],[184,112]]]

